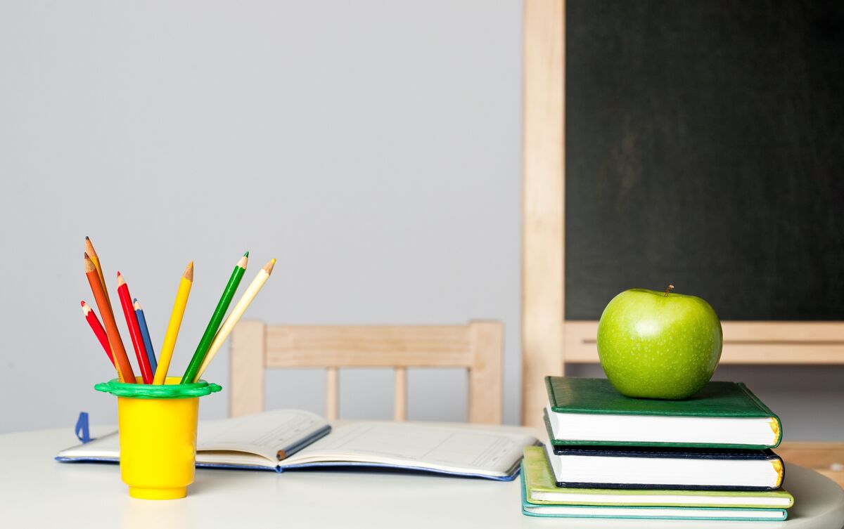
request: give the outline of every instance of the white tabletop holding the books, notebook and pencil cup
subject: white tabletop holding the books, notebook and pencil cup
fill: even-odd
[[[538,432],[537,432],[538,433]],[[71,430],[0,435],[0,505],[8,527],[717,527],[840,529],[844,492],[809,469],[787,466],[795,506],[785,522],[620,521],[522,516],[518,481],[400,473],[197,469],[184,500],[129,498],[116,465],[60,463]]]

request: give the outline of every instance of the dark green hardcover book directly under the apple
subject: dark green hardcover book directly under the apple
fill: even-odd
[[[684,400],[625,397],[605,378],[545,377],[554,445],[773,448],[782,423],[741,382],[708,382]]]

